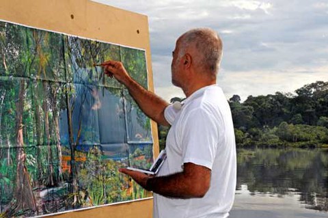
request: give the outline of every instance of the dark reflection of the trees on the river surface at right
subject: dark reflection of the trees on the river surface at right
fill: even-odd
[[[299,206],[328,211],[328,149],[238,149],[237,190],[299,196]]]

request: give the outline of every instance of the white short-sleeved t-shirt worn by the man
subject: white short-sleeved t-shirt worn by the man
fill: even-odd
[[[177,199],[154,193],[154,218],[228,217],[236,189],[236,144],[230,107],[217,85],[202,87],[169,105],[165,119],[167,159],[158,176],[182,172],[184,163],[211,169],[210,189],[202,198]]]

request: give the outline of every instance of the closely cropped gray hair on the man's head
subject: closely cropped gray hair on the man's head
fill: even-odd
[[[197,54],[193,55],[195,65],[216,76],[222,57],[222,41],[217,32],[210,28],[187,31],[180,37],[178,57],[182,57],[192,46],[197,51]]]

